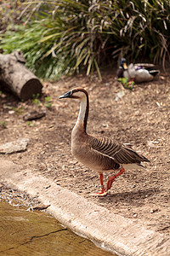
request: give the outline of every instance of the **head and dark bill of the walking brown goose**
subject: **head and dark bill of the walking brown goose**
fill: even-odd
[[[82,99],[88,96],[88,92],[83,88],[75,88],[67,91],[64,95],[59,96],[59,99],[71,98],[71,99]]]

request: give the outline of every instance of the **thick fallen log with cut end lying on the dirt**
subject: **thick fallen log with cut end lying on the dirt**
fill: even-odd
[[[25,63],[21,51],[14,51],[9,55],[0,54],[0,85],[12,91],[20,100],[27,100],[42,92],[41,82]]]

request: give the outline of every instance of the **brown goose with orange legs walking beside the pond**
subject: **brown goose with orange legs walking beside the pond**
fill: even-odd
[[[132,148],[114,142],[109,137],[93,137],[88,135],[86,128],[88,122],[88,92],[82,88],[76,88],[66,92],[61,98],[78,99],[80,101],[80,112],[77,123],[71,133],[71,152],[92,170],[99,173],[101,191],[93,195],[107,195],[111,189],[111,184],[125,170],[144,168],[142,161],[149,162],[143,155],[134,152]],[[118,170],[116,174],[109,177],[106,189],[103,183],[103,172],[112,172]]]

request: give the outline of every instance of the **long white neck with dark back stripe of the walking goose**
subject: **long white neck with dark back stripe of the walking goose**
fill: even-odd
[[[80,102],[80,111],[77,118],[77,123],[75,127],[82,127],[83,131],[86,132],[88,123],[88,111],[89,111],[89,101],[88,95],[83,96]]]

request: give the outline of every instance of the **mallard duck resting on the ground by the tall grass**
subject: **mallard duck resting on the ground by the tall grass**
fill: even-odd
[[[150,82],[160,73],[159,70],[153,69],[154,65],[149,63],[131,63],[127,67],[127,61],[122,58],[120,61],[120,67],[117,70],[118,78],[128,78],[129,81],[134,81],[136,84],[142,82]]]

